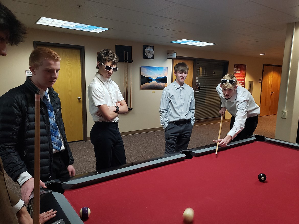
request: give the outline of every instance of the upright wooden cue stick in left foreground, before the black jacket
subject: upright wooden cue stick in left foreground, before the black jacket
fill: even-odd
[[[33,224],[39,224],[40,94],[35,93]]]

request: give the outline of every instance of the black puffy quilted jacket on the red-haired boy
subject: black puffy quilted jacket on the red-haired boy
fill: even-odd
[[[34,119],[35,93],[39,89],[26,79],[23,85],[9,90],[0,97],[0,156],[7,174],[16,181],[20,174],[28,171],[34,174]],[[65,136],[58,93],[49,88],[57,126],[62,135],[65,150],[62,157],[65,164],[74,163]],[[40,179],[51,179],[53,146],[47,107],[40,102]]]

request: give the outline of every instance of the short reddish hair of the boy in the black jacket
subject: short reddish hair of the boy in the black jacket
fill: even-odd
[[[29,56],[29,66],[38,68],[42,65],[44,59],[50,59],[54,62],[61,60],[60,56],[54,51],[46,47],[39,47],[34,49]]]

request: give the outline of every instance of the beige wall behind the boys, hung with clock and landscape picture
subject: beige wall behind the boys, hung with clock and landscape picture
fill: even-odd
[[[85,72],[86,72],[86,91],[90,81],[97,71],[95,68],[97,52],[104,48],[115,50],[115,45],[132,46],[132,111],[125,115],[120,115],[120,132],[136,131],[150,128],[160,128],[159,106],[162,90],[140,90],[140,66],[159,66],[168,67],[168,84],[171,82],[172,60],[166,59],[167,50],[176,50],[177,56],[218,59],[229,61],[229,72],[233,73],[234,64],[246,64],[245,88],[248,88],[248,82],[254,81],[253,96],[257,104],[260,104],[259,79],[262,78],[263,64],[282,65],[282,61],[265,59],[260,57],[245,57],[239,55],[230,55],[225,53],[213,53],[204,51],[208,47],[199,47],[198,50],[190,50],[184,47],[167,47],[154,45],[154,60],[143,59],[143,44],[138,42],[128,42],[115,39],[102,39],[90,36],[81,36],[68,33],[59,33],[45,30],[28,29],[26,42],[18,47],[8,47],[8,56],[1,57],[1,83],[0,95],[13,87],[21,85],[25,81],[25,70],[28,69],[28,58],[30,51],[33,50],[33,41],[53,42],[70,45],[83,45],[85,47]],[[114,73],[114,80],[123,92],[123,63],[119,63],[120,68]],[[130,70],[130,67],[129,67]],[[215,90],[216,91],[216,90]],[[87,92],[86,92],[87,96]],[[93,121],[88,111],[87,102],[87,134],[89,136]],[[63,112],[63,111],[62,111]],[[226,118],[230,115],[226,114]]]

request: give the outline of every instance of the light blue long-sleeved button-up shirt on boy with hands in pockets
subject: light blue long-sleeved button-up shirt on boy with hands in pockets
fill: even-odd
[[[191,119],[195,123],[194,90],[184,83],[180,86],[176,81],[164,88],[160,104],[160,123],[165,129],[170,121]]]

